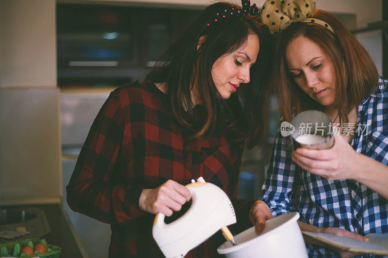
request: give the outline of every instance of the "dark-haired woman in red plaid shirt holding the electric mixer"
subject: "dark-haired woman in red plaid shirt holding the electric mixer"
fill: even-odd
[[[146,82],[118,87],[102,106],[66,190],[72,210],[111,224],[109,257],[163,257],[155,214],[184,210],[185,185],[199,177],[232,200],[242,227],[232,232],[250,226],[254,201],[237,200],[238,178],[245,140],[253,147],[263,135],[256,125],[265,123],[273,56],[258,14],[249,0],[210,5]],[[211,238],[185,257],[217,256],[224,241]]]

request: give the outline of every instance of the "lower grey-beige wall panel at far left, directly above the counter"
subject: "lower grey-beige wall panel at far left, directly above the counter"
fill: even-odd
[[[0,204],[60,201],[59,90],[0,88]]]

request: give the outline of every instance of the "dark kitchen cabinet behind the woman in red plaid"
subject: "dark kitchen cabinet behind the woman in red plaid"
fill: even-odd
[[[200,9],[58,3],[58,86],[143,80]]]

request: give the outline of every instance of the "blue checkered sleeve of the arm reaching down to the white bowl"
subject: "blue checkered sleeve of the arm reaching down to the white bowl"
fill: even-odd
[[[283,213],[294,212],[294,185],[295,163],[291,160],[291,147],[289,140],[285,140],[277,132],[272,150],[270,167],[263,184],[263,195],[260,200],[264,201],[271,209],[275,217]]]

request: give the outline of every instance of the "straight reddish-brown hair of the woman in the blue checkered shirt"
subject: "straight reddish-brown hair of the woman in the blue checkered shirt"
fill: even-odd
[[[316,23],[296,22],[279,36],[275,57],[273,86],[281,104],[285,121],[307,109],[323,110],[295,83],[289,72],[286,48],[297,37],[307,37],[323,49],[331,59],[336,76],[336,94],[339,100],[339,121],[348,122],[348,114],[367,97],[378,83],[378,72],[371,57],[351,32],[334,15],[316,10],[311,16],[328,23],[335,33]]]

